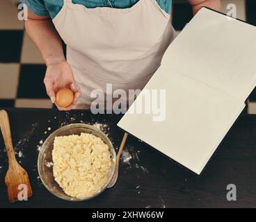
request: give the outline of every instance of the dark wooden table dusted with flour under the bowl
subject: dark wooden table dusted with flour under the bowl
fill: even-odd
[[[134,137],[127,140],[120,177],[112,189],[93,200],[70,203],[45,189],[38,178],[40,141],[67,123],[106,123],[117,148],[123,131],[120,116],[93,115],[88,111],[8,109],[17,160],[29,172],[33,197],[10,204],[4,176],[8,160],[0,136],[0,208],[2,207],[256,207],[256,116],[241,114],[201,176],[180,166]],[[49,128],[49,129],[48,129]],[[159,138],[160,139],[160,138]],[[171,135],[170,135],[171,139]],[[128,153],[128,154],[129,154]],[[19,155],[21,157],[19,157]],[[125,156],[125,157],[129,157]],[[227,185],[237,186],[237,201],[227,201]]]

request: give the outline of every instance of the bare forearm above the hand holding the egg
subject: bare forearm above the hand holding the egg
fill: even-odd
[[[61,37],[51,19],[29,19],[25,22],[25,28],[47,66],[65,60]]]

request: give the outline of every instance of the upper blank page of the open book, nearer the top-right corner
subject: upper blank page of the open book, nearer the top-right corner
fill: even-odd
[[[256,85],[256,27],[202,8],[162,65],[245,101]]]

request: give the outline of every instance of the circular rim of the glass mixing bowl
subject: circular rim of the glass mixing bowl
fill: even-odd
[[[42,160],[42,157],[45,153],[45,149],[47,148],[47,144],[49,142],[50,139],[52,139],[52,137],[56,137],[56,134],[62,130],[65,130],[65,129],[70,129],[70,128],[76,128],[76,127],[82,127],[82,128],[88,128],[90,130],[94,130],[96,131],[97,133],[100,133],[102,134],[102,136],[109,142],[110,144],[110,149],[113,151],[113,157],[112,157],[112,161],[113,161],[113,170],[111,172],[111,176],[109,176],[109,179],[107,180],[106,184],[104,185],[104,187],[102,187],[102,189],[100,189],[96,194],[94,194],[93,196],[90,196],[90,197],[87,197],[87,198],[72,198],[72,196],[69,196],[70,199],[68,198],[63,198],[61,196],[58,196],[56,193],[54,193],[54,191],[52,191],[50,189],[50,186],[47,184],[47,182],[45,182],[45,180],[43,179],[44,176],[42,176],[42,170],[40,170],[40,160]],[[67,201],[71,201],[71,202],[81,202],[81,201],[86,201],[86,200],[90,200],[92,198],[95,198],[96,196],[99,196],[99,194],[102,194],[103,191],[106,190],[106,188],[108,188],[108,185],[109,185],[109,182],[111,182],[113,176],[114,176],[114,173],[115,173],[115,169],[116,169],[116,153],[115,153],[115,148],[113,148],[113,144],[111,142],[111,140],[109,139],[109,137],[106,135],[106,133],[102,132],[102,130],[100,130],[99,128],[93,126],[93,125],[89,125],[89,124],[86,124],[86,123],[71,123],[71,124],[68,124],[68,125],[65,125],[65,126],[62,126],[61,128],[58,128],[57,130],[55,130],[53,133],[51,133],[47,139],[45,139],[45,142],[42,144],[41,148],[40,148],[40,151],[38,153],[38,174],[39,174],[39,177],[40,177],[40,180],[42,181],[42,184],[45,186],[45,188],[51,193],[53,194],[54,196],[56,196],[57,198],[60,198],[62,200],[67,200]],[[56,182],[57,185],[58,185],[58,182]],[[59,185],[58,185],[59,186]],[[59,186],[60,187],[60,186]],[[62,189],[62,188],[61,188]],[[67,195],[67,194],[66,194]],[[68,195],[67,195],[68,196]]]

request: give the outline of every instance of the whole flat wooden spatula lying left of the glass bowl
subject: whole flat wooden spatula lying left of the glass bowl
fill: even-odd
[[[6,151],[9,160],[9,168],[5,179],[8,191],[8,199],[10,203],[14,203],[19,200],[26,200],[32,196],[29,175],[19,165],[15,158],[12,137],[10,134],[9,118],[5,110],[0,111],[0,127],[3,134],[3,140],[6,144]]]

